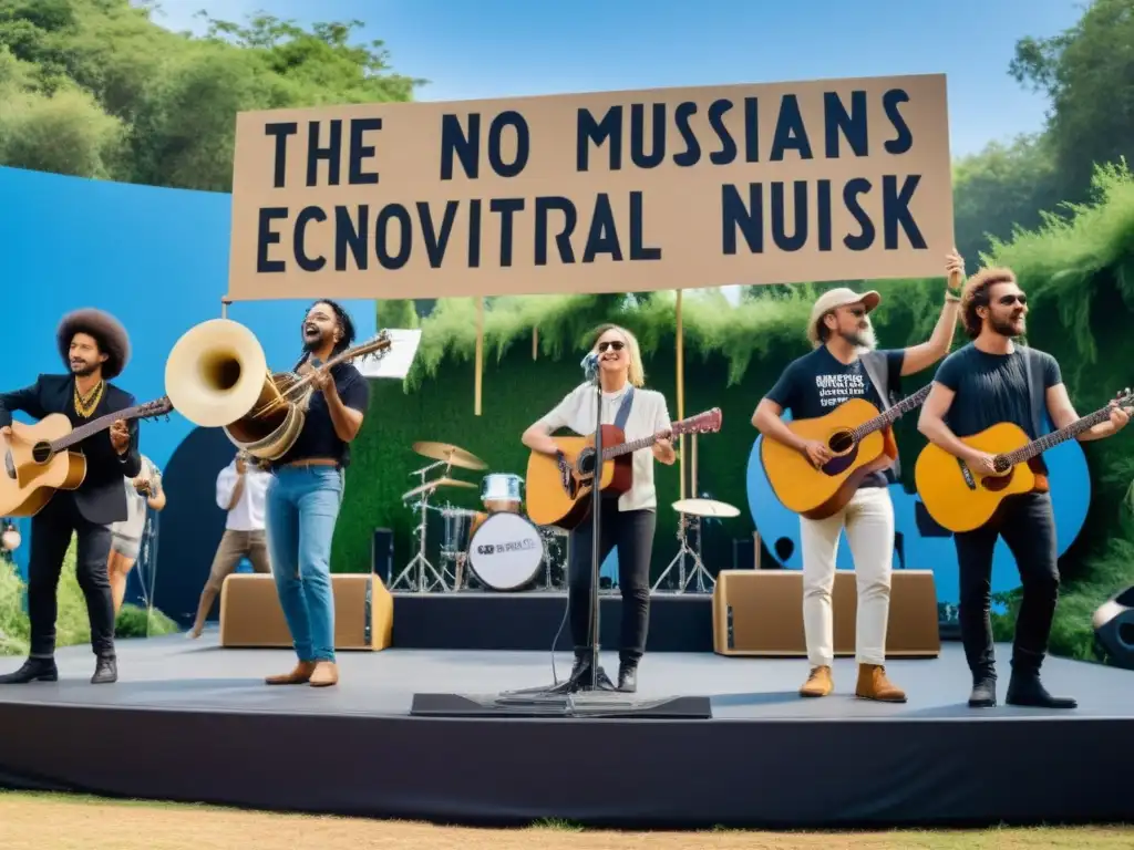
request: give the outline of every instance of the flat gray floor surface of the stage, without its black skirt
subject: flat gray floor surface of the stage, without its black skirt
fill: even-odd
[[[198,712],[284,712],[319,714],[407,715],[415,692],[494,694],[501,690],[550,685],[550,653],[458,652],[387,649],[342,653],[337,688],[270,688],[270,673],[287,671],[295,656],[277,649],[221,649],[217,632],[198,640],[183,635],[149,640],[119,641],[119,681],[92,686],[94,658],[90,647],[59,652],[60,681],[0,687],[0,702],[71,705],[115,705],[132,708]],[[1001,660],[1000,699],[1007,687],[1010,647],[998,646]],[[0,672],[15,669],[19,658],[0,658]],[[618,660],[604,653],[613,675]],[[562,679],[570,656],[556,656]],[[881,705],[855,699],[854,662],[835,663],[836,692],[826,699],[801,699],[796,689],[806,675],[799,658],[734,658],[714,654],[654,653],[638,672],[638,696],[708,695],[714,719],[788,720],[987,720],[1022,716],[1115,717],[1134,720],[1134,672],[1097,664],[1049,658],[1044,680],[1052,692],[1075,696],[1073,712],[1046,712],[1001,706],[971,709],[965,705],[970,679],[960,646],[946,643],[939,658],[895,661],[888,665],[894,681],[906,689],[909,702]]]

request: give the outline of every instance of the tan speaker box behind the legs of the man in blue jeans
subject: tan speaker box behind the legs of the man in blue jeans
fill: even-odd
[[[373,572],[331,576],[335,648],[384,649],[392,643],[393,596]],[[290,648],[276,579],[234,572],[220,590],[220,645],[228,648]]]

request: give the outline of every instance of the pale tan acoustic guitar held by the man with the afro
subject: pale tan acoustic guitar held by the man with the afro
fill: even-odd
[[[34,425],[14,422],[11,436],[0,435],[0,516],[34,517],[60,490],[77,490],[86,478],[86,458],[70,447],[117,419],[149,419],[174,409],[162,396],[144,405],[117,410],[71,428],[64,414],[50,414]]]

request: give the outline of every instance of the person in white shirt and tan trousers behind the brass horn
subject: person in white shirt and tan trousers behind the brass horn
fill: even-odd
[[[217,476],[217,507],[228,511],[228,518],[209,580],[201,592],[197,617],[188,634],[191,638],[201,637],[225,579],[236,571],[240,559],[247,558],[256,572],[272,571],[264,534],[264,498],[271,479],[271,473],[256,458],[240,452]]]

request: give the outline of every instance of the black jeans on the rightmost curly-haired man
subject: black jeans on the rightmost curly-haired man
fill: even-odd
[[[1056,520],[1047,493],[1009,496],[982,528],[954,536],[960,568],[960,639],[974,678],[996,674],[989,605],[992,552],[1002,536],[1019,570],[1023,600],[1013,643],[1014,670],[1034,673],[1048,651],[1051,620],[1059,597]]]

